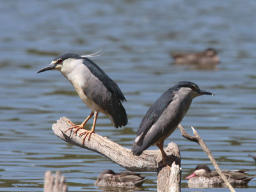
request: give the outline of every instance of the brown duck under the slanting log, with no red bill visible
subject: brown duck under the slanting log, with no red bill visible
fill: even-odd
[[[138,187],[141,186],[145,180],[147,179],[139,173],[115,173],[113,170],[104,170],[96,180],[95,186]]]

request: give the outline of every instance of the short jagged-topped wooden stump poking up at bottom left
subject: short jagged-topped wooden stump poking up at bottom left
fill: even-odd
[[[44,192],[67,192],[68,186],[65,182],[65,177],[60,171],[56,175],[52,175],[51,171],[45,172],[44,175]]]

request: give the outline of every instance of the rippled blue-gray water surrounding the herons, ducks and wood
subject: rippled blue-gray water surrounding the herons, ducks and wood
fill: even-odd
[[[182,125],[189,133],[191,125],[197,129],[222,169],[255,175],[248,157],[256,151],[255,13],[255,1],[239,0],[1,1],[0,191],[43,191],[46,170],[60,170],[70,191],[100,191],[93,183],[102,170],[125,171],[52,133],[61,116],[81,123],[90,109],[60,72],[36,74],[60,53],[101,48],[92,60],[124,92],[129,124],[114,129],[100,115],[98,134],[131,148],[141,118],[161,93],[178,81],[193,81],[216,96],[197,97]],[[207,47],[221,57],[214,69],[174,65],[169,56]],[[187,188],[185,175],[211,162],[178,129],[165,145],[170,141],[182,156],[182,191],[195,191]],[[142,174],[148,177],[142,191],[156,191],[156,173]],[[255,189],[254,179],[237,191]]]

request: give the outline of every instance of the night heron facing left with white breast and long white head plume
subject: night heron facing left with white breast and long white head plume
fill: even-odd
[[[74,132],[84,129],[86,122],[94,115],[92,129],[80,134],[80,136],[85,134],[83,143],[86,136],[90,140],[99,112],[106,114],[116,128],[127,124],[127,114],[122,106],[122,101],[125,100],[123,93],[118,85],[92,60],[86,56],[65,53],[56,57],[50,65],[37,73],[46,70],[59,70],[74,86],[81,100],[92,109],[92,113],[81,125],[70,122],[73,126],[67,129],[68,131],[76,128]]]

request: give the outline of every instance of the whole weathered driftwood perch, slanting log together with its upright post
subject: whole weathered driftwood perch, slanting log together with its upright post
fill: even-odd
[[[180,191],[181,168],[175,163],[170,164],[172,166],[171,170],[166,166],[159,168],[162,163],[160,150],[145,150],[141,156],[134,156],[131,149],[124,148],[97,133],[91,135],[90,141],[86,139],[83,145],[83,137],[79,137],[83,130],[77,131],[76,134],[72,130],[65,133],[71,126],[68,123],[68,118],[62,117],[56,124],[52,125],[52,130],[56,136],[67,143],[97,152],[127,170],[132,172],[157,172],[157,191]],[[167,156],[175,158],[180,164],[179,148],[175,143],[169,143],[164,151]],[[170,162],[166,161],[166,163]]]

